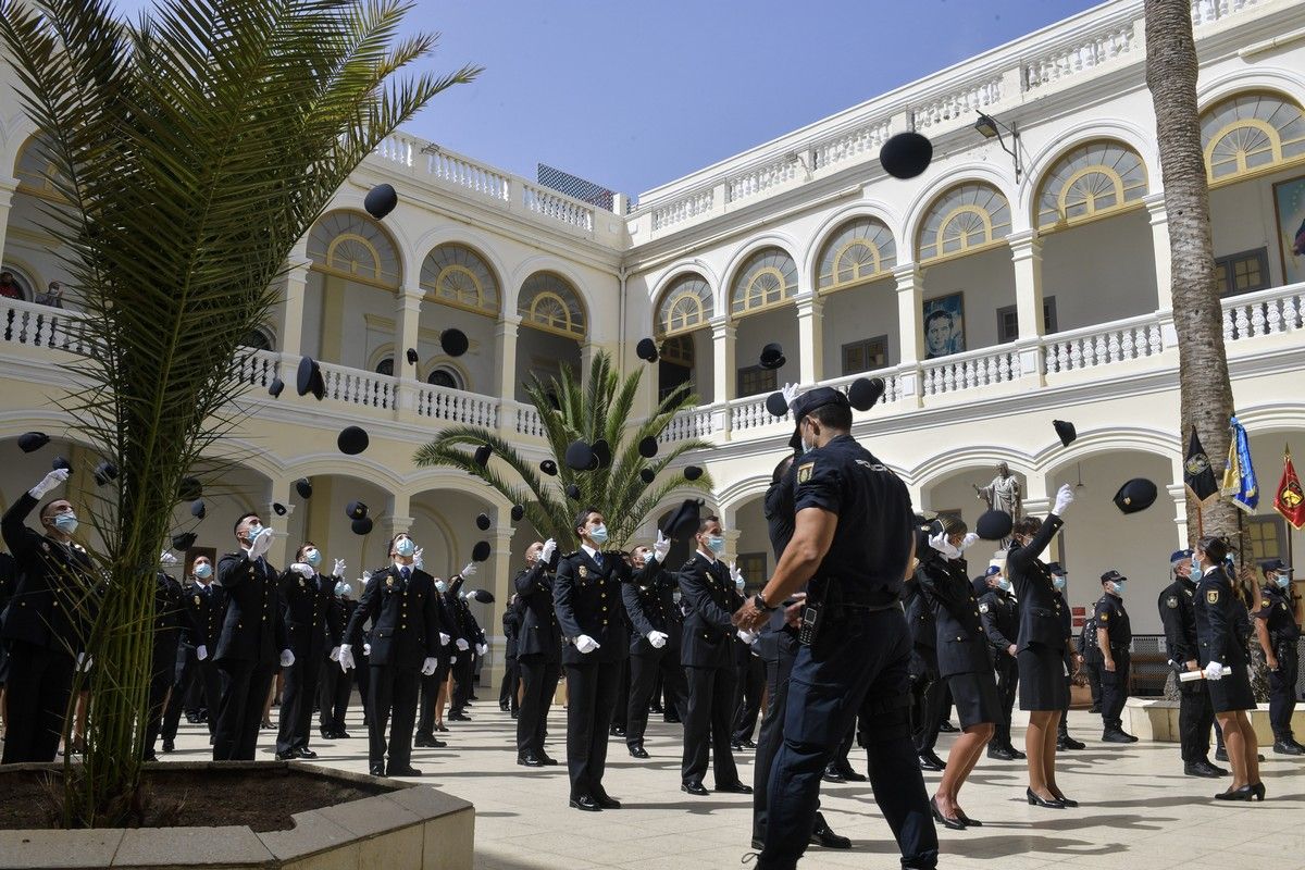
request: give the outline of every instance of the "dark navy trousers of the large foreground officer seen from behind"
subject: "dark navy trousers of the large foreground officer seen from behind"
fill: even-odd
[[[757,867],[790,870],[806,850],[825,767],[857,715],[870,787],[897,837],[903,866],[938,863],[924,775],[911,743],[911,637],[900,608],[850,610],[797,651],[784,742],[771,766],[769,822]]]

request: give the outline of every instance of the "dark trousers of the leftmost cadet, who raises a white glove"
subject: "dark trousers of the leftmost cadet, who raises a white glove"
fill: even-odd
[[[26,640],[9,642],[4,764],[52,762],[68,712],[73,656]]]

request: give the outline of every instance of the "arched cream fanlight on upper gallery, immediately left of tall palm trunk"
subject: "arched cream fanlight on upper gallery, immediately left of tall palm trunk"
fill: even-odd
[[[1144,197],[1146,188],[1137,151],[1121,142],[1088,142],[1048,170],[1037,193],[1037,228],[1105,217]]]

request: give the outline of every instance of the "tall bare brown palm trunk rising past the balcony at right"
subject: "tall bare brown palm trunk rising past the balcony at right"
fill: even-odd
[[[1210,184],[1197,108],[1197,43],[1190,0],[1146,0],[1146,81],[1155,104],[1156,143],[1169,219],[1173,325],[1178,333],[1180,441],[1194,424],[1210,457],[1228,454],[1233,412],[1223,305],[1215,288]],[[1220,498],[1188,500],[1188,533],[1237,533],[1237,509]]]

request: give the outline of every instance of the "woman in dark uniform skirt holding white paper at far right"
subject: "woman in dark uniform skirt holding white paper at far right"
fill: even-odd
[[[1197,647],[1206,672],[1215,719],[1223,730],[1232,785],[1215,794],[1220,801],[1263,801],[1259,781],[1259,746],[1246,711],[1255,707],[1250,689],[1250,657],[1237,638],[1238,601],[1228,575],[1228,544],[1220,537],[1202,537],[1191,562],[1197,579]]]

